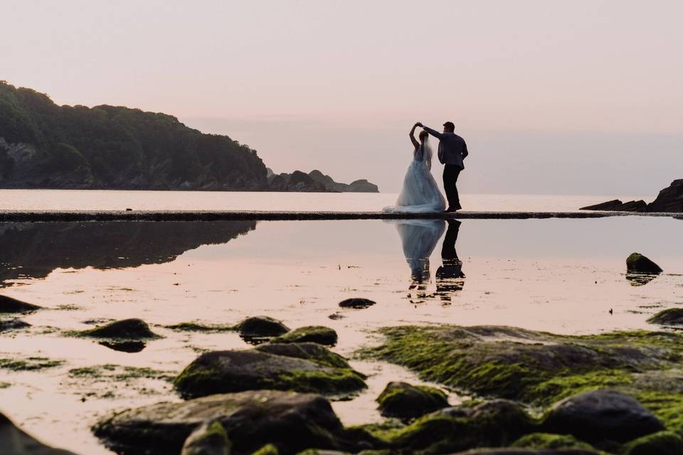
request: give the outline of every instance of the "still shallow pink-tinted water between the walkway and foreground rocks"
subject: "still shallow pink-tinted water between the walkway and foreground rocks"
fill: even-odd
[[[177,398],[164,380],[93,381],[69,370],[115,364],[175,375],[201,350],[247,347],[234,333],[162,327],[183,321],[235,323],[263,314],[292,328],[330,326],[339,333],[334,349],[347,356],[376,342],[374,328],[406,323],[504,324],[557,333],[655,328],[645,322],[650,314],[683,303],[682,223],[647,217],[450,225],[6,223],[0,225],[0,292],[48,309],[23,318],[33,325],[28,331],[2,334],[0,358],[64,363],[0,370],[0,382],[9,383],[0,388],[2,411],[49,444],[108,453],[90,434],[98,417]],[[625,276],[625,258],[634,251],[665,273],[634,286]],[[377,304],[339,309],[339,301],[353,296]],[[332,314],[343,317],[330,319]],[[129,317],[144,319],[165,338],[139,353],[123,353],[60,333],[90,328],[88,320]],[[371,375],[370,388],[334,403],[346,424],[379,419],[373,400],[386,382],[418,382],[394,365],[353,365]]]

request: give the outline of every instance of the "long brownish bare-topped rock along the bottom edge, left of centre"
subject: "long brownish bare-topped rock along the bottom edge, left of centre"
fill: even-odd
[[[310,447],[359,451],[362,441],[346,437],[329,402],[319,395],[260,390],[162,402],[113,414],[95,425],[97,437],[118,453],[177,454],[206,422],[218,422],[233,454],[250,454],[273,444],[280,454]]]

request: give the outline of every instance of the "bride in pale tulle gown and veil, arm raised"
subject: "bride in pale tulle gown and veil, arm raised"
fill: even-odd
[[[396,205],[385,207],[385,212],[398,213],[430,213],[443,212],[446,203],[436,186],[436,181],[432,176],[432,149],[429,146],[429,134],[422,131],[419,134],[420,141],[415,140],[415,128],[413,125],[411,142],[413,150],[413,161],[408,166],[406,177],[403,178],[403,188],[398,195]]]

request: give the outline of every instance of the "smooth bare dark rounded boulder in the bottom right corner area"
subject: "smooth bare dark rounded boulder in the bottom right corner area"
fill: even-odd
[[[588,442],[625,442],[660,432],[664,425],[635,398],[601,389],[556,403],[546,416],[544,428]]]

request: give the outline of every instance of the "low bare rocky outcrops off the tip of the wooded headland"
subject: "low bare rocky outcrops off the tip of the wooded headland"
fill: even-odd
[[[379,193],[374,183],[365,179],[356,180],[349,184],[338,183],[330,176],[318,171],[304,173],[273,173],[268,168],[268,186],[275,191],[317,191],[334,193]]]

